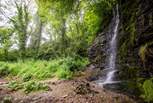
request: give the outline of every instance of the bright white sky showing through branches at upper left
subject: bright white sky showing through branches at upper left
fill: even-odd
[[[0,0],[0,27],[8,26],[8,17],[11,18],[16,14],[15,2],[28,5],[28,11],[31,15],[37,12],[37,5],[34,0]]]

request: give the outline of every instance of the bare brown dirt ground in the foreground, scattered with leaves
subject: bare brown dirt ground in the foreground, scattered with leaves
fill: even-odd
[[[41,81],[49,86],[49,90],[30,94],[6,88],[5,83],[8,81],[1,79],[0,101],[2,103],[136,103],[126,95],[105,90],[88,81],[87,78],[93,75],[92,73],[92,69],[87,69],[72,80],[53,78]]]

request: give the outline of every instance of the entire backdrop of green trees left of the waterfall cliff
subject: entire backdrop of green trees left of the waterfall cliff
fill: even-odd
[[[5,50],[0,50],[0,60],[16,61],[24,58],[49,60],[75,54],[85,57],[87,48],[102,28],[102,24],[105,25],[110,20],[115,3],[115,0],[36,0],[38,11],[35,17],[30,15],[28,5],[16,1],[16,15],[9,19],[12,24],[10,30],[16,36],[14,41],[18,44],[19,50],[9,50],[13,43],[6,43]],[[29,25],[31,21],[36,22],[36,27],[34,24]],[[10,34],[7,28],[0,29],[0,39],[2,33]],[[29,32],[30,28],[34,30]],[[44,31],[49,34],[51,40],[41,44]],[[31,42],[27,48],[29,36]]]

